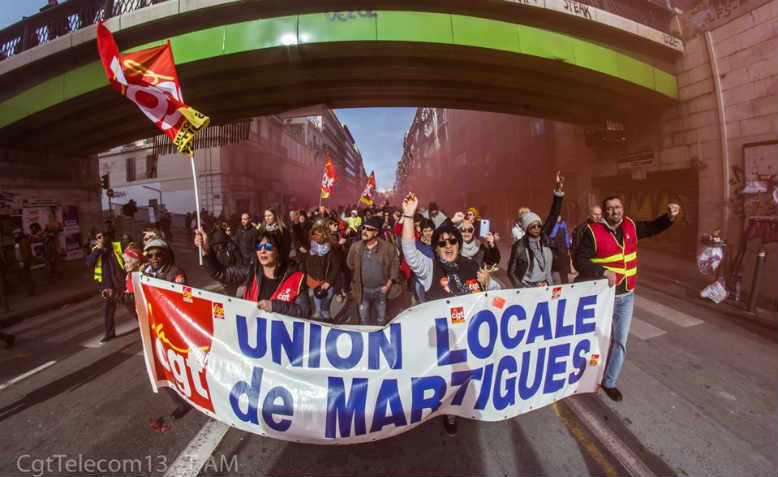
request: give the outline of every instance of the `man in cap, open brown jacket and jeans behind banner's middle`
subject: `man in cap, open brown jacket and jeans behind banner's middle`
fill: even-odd
[[[346,264],[351,269],[351,294],[358,305],[362,323],[384,325],[386,300],[402,293],[400,258],[392,244],[379,238],[384,221],[372,217],[362,225],[362,240],[349,249]],[[371,310],[376,319],[371,319]]]

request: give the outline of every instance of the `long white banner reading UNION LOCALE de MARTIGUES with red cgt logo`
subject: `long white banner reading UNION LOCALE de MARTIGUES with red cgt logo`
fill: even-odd
[[[134,274],[151,384],[247,432],[314,444],[384,439],[441,414],[500,421],[595,392],[614,289],[598,280],[330,326]]]

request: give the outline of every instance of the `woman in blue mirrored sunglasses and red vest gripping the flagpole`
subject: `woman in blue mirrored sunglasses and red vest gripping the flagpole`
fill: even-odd
[[[269,313],[310,317],[305,275],[283,253],[280,234],[260,231],[257,234],[255,257],[246,264],[229,267],[222,266],[216,254],[210,250],[208,235],[203,229],[195,232],[194,243],[196,247],[202,245],[208,274],[220,283],[245,288],[243,299],[256,301],[259,308]]]

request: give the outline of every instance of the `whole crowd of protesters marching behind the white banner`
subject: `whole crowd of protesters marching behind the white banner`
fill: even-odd
[[[255,301],[266,312],[333,323],[340,322],[338,316],[354,316],[363,325],[384,325],[387,302],[404,292],[414,305],[486,290],[567,283],[571,269],[576,280],[605,278],[617,291],[602,388],[619,401],[616,380],[632,317],[637,241],[672,225],[679,207],[670,204],[667,214],[640,222],[623,215],[620,198],[607,197],[571,232],[560,215],[563,189],[564,179],[557,173],[545,220],[527,207],[519,209],[511,230],[510,257],[504,262],[506,283],[494,276],[503,259],[500,236],[489,230],[477,209],[449,217],[434,201],[420,209],[413,193],[397,207],[388,202],[337,209],[319,206],[285,215],[269,208],[259,216],[245,211],[233,221],[208,217],[203,211],[206,226],[192,230],[192,235],[205,269],[225,294]],[[187,214],[185,225],[191,227],[194,216]],[[104,230],[97,236],[87,259],[106,299],[103,340],[115,336],[116,304],[132,307],[129,272],[186,283],[165,240],[169,231],[147,227],[138,245],[126,236],[114,241],[111,234]],[[351,313],[344,313],[348,304]],[[173,415],[180,417],[188,405],[173,399],[177,404]],[[446,416],[444,426],[449,434],[456,433],[453,416]]]

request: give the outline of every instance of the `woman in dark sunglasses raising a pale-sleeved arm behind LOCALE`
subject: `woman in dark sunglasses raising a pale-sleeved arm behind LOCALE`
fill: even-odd
[[[499,289],[500,285],[489,279],[489,268],[479,268],[478,263],[460,253],[462,233],[450,221],[442,223],[432,235],[436,258],[416,248],[413,217],[418,206],[419,199],[413,193],[403,199],[402,249],[408,266],[424,286],[427,300]],[[445,416],[443,427],[449,435],[456,435],[456,416]]]

